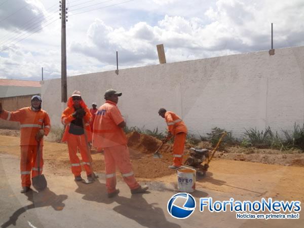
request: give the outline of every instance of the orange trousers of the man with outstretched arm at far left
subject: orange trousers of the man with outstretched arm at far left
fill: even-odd
[[[30,173],[32,177],[39,175],[38,163],[36,161],[37,145],[21,145],[21,159],[20,159],[20,172],[21,172],[21,186],[30,186]],[[40,174],[43,170],[43,146],[40,146]]]

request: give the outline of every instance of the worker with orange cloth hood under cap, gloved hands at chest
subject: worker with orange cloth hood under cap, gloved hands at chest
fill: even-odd
[[[88,181],[93,182],[92,169],[88,143],[92,141],[90,129],[91,113],[81,97],[81,93],[75,90],[67,101],[67,108],[63,111],[61,122],[65,125],[63,142],[67,142],[68,154],[71,163],[71,171],[74,174],[75,181],[82,181],[81,164],[77,156],[78,149],[83,160],[87,173]],[[84,126],[85,125],[85,126]]]

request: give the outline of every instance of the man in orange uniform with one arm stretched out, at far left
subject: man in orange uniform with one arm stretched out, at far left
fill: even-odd
[[[21,193],[30,191],[30,173],[32,177],[42,174],[43,170],[43,137],[50,132],[50,118],[48,113],[41,109],[42,99],[38,95],[31,98],[31,106],[17,111],[7,111],[0,102],[0,118],[7,121],[20,122],[20,171]],[[40,161],[36,161],[37,151]],[[40,173],[38,173],[38,162]]]

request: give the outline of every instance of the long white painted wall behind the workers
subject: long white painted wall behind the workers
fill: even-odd
[[[68,77],[68,96],[80,90],[91,106],[100,106],[106,89],[123,93],[119,108],[128,126],[165,130],[158,109],[177,113],[192,134],[213,127],[292,130],[304,123],[304,47],[245,53],[209,59],[166,63]],[[168,56],[169,57],[169,56]],[[60,125],[61,80],[45,81],[43,106],[52,125]]]

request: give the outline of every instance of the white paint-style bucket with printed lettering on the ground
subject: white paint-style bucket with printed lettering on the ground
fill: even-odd
[[[182,193],[193,193],[195,191],[196,170],[177,170],[177,189]]]

